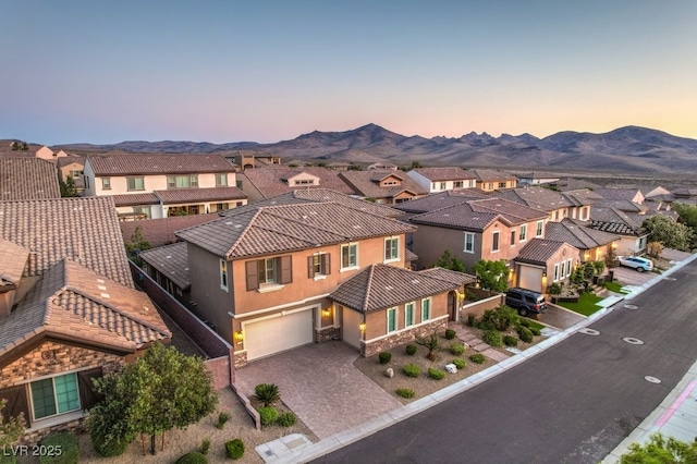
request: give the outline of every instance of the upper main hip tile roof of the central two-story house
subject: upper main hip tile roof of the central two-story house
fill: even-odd
[[[175,235],[217,256],[239,258],[414,230],[413,225],[341,204],[305,203],[235,208],[221,219]]]

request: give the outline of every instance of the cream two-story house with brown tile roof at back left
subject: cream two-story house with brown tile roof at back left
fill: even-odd
[[[123,220],[205,215],[246,205],[220,155],[89,156],[85,196],[113,196]]]

